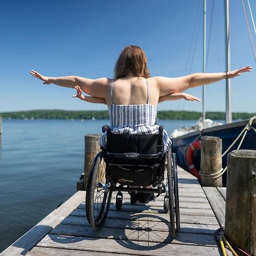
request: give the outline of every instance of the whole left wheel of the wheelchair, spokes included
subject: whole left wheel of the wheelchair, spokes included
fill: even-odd
[[[94,230],[100,229],[104,224],[112,197],[102,156],[102,152],[99,152],[94,158],[86,188],[86,217]]]

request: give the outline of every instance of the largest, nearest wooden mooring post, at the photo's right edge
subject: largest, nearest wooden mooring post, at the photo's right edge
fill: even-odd
[[[256,255],[255,175],[256,150],[228,154],[225,236],[250,255]]]

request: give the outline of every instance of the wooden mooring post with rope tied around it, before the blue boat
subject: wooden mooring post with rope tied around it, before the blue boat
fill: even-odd
[[[201,138],[200,175],[203,187],[222,187],[222,139],[205,136]]]

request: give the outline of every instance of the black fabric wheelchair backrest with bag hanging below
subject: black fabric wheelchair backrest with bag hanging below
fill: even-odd
[[[164,170],[163,156],[162,131],[147,135],[107,133],[105,161],[115,183],[156,184]]]

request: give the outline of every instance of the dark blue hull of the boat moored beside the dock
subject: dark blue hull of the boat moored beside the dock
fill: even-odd
[[[207,129],[203,129],[201,131],[195,131],[193,133],[185,134],[180,137],[172,138],[172,151],[174,151],[177,155],[177,164],[189,171],[187,162],[186,162],[186,153],[187,147],[196,139],[201,139],[203,136],[214,136],[222,139],[222,154],[228,149],[230,144],[238,137],[244,127],[247,125],[249,120],[229,123],[227,125],[215,126]],[[256,129],[256,121],[251,125]],[[242,136],[238,139],[238,141],[233,145],[232,148],[228,151],[231,152],[236,150]],[[253,129],[247,131],[246,137],[243,139],[240,149],[247,150],[256,150],[256,133]],[[225,168],[227,164],[227,154],[222,158],[222,167]],[[197,170],[200,170],[200,150],[195,150],[193,154],[193,163]],[[226,184],[226,175],[223,176],[223,183]]]

